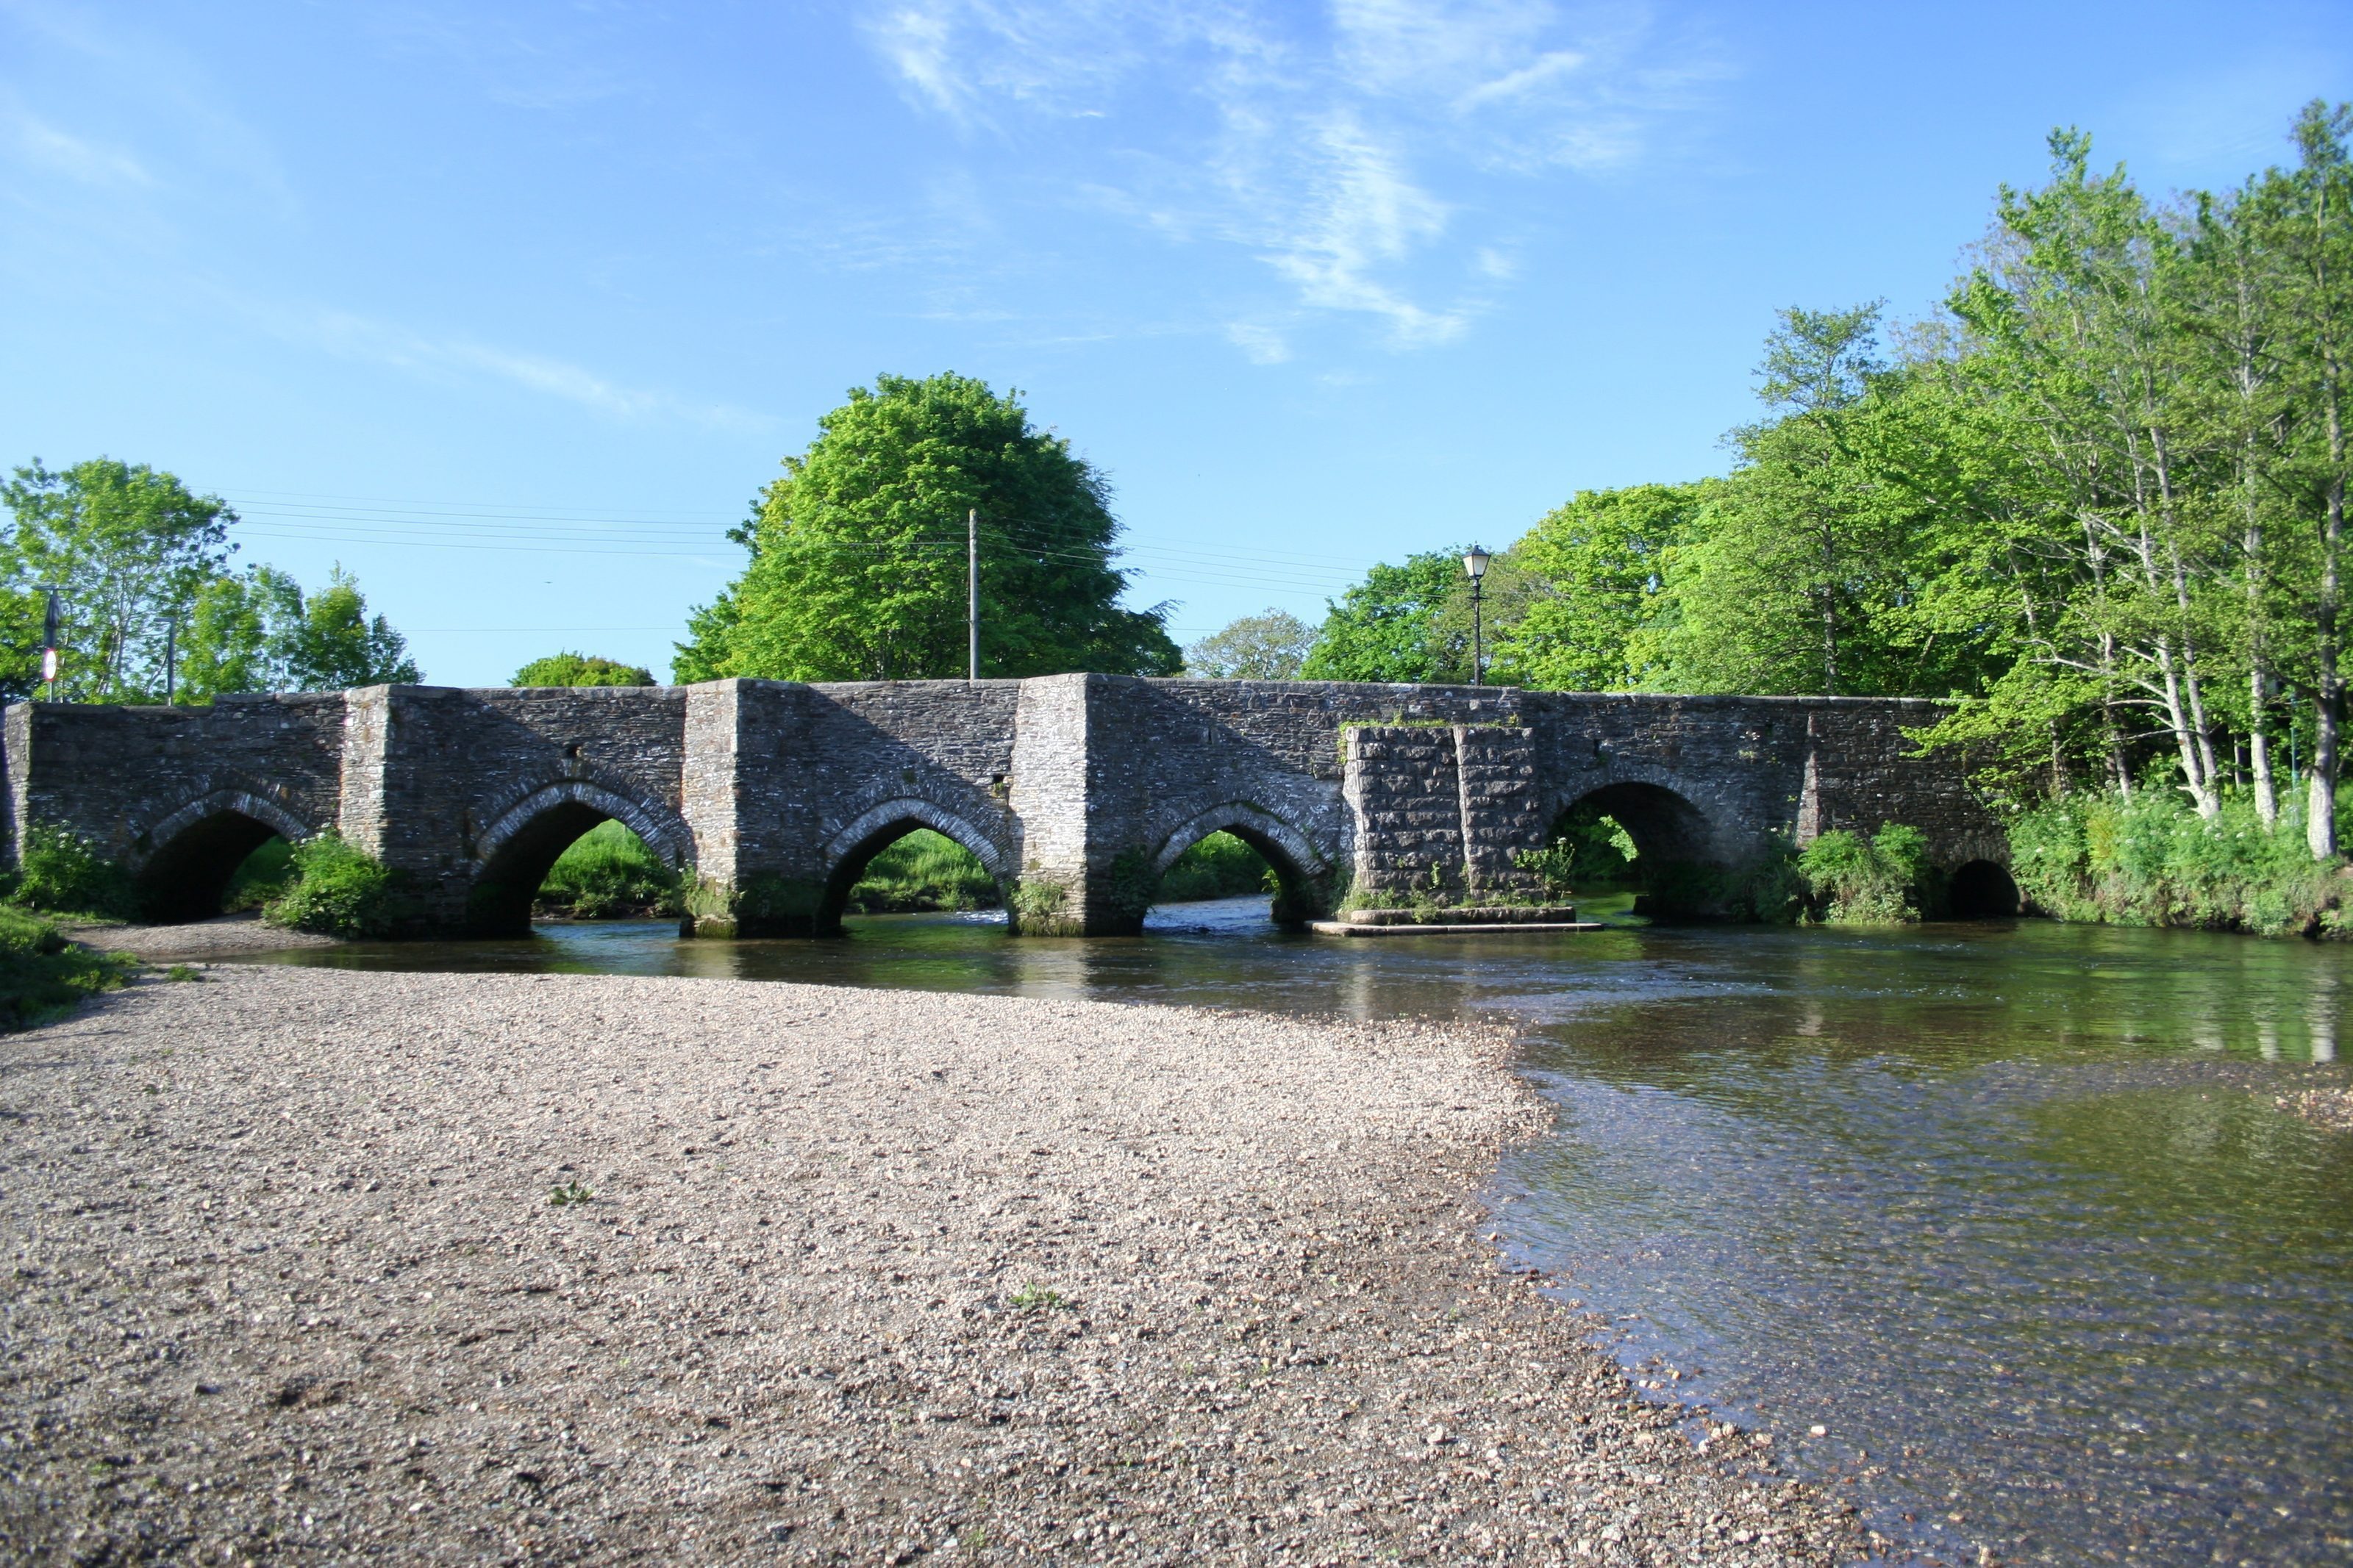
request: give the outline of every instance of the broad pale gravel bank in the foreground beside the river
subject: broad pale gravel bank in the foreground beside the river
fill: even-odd
[[[1438,1027],[212,969],[0,1039],[9,1561],[1833,1563]],[[581,1201],[555,1204],[551,1194]]]

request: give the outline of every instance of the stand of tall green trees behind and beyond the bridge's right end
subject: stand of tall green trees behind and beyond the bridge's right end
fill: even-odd
[[[1581,491],[1497,557],[1497,675],[1955,698],[1925,743],[2019,809],[2240,797],[2334,856],[2348,134],[2311,103],[2294,162],[2153,202],[2054,132],[1927,322],[1781,313],[1725,477]],[[1445,559],[1377,567],[1308,668],[1454,675]]]

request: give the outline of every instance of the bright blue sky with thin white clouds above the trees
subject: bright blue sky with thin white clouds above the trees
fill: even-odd
[[[1722,473],[2078,125],[2289,158],[2353,5],[0,0],[0,461],[153,463],[426,679],[656,675],[875,374],[1019,388],[1179,642]]]

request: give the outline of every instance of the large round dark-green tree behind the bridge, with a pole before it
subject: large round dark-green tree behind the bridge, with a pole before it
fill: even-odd
[[[694,611],[680,682],[965,672],[965,515],[979,512],[981,675],[1174,675],[1165,609],[1120,609],[1108,484],[1019,393],[878,376],[819,421],[734,538],[751,567]]]

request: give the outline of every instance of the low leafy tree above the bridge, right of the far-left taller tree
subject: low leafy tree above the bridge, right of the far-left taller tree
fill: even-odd
[[[205,583],[184,637],[179,701],[221,691],[344,691],[424,679],[407,639],[367,614],[341,567],[315,595],[275,567]]]

